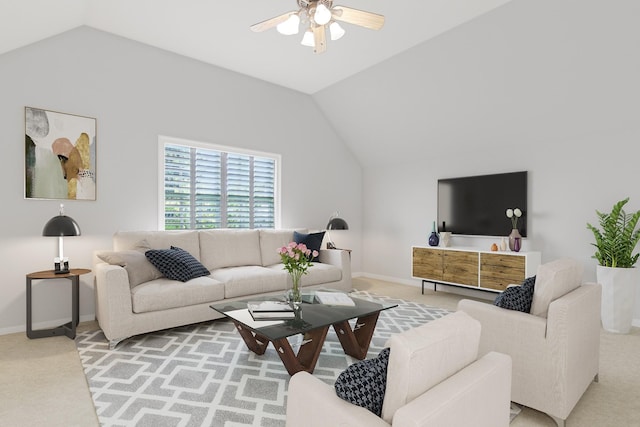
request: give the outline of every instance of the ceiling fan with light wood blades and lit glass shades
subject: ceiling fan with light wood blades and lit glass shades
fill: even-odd
[[[252,25],[251,30],[259,33],[276,27],[280,34],[298,34],[300,24],[307,29],[302,38],[302,45],[313,47],[314,53],[327,50],[327,28],[331,40],[338,40],[345,33],[338,24],[346,22],[372,30],[379,30],[384,25],[384,16],[365,12],[345,6],[334,6],[332,0],[296,0],[298,10],[292,10],[266,21]]]

